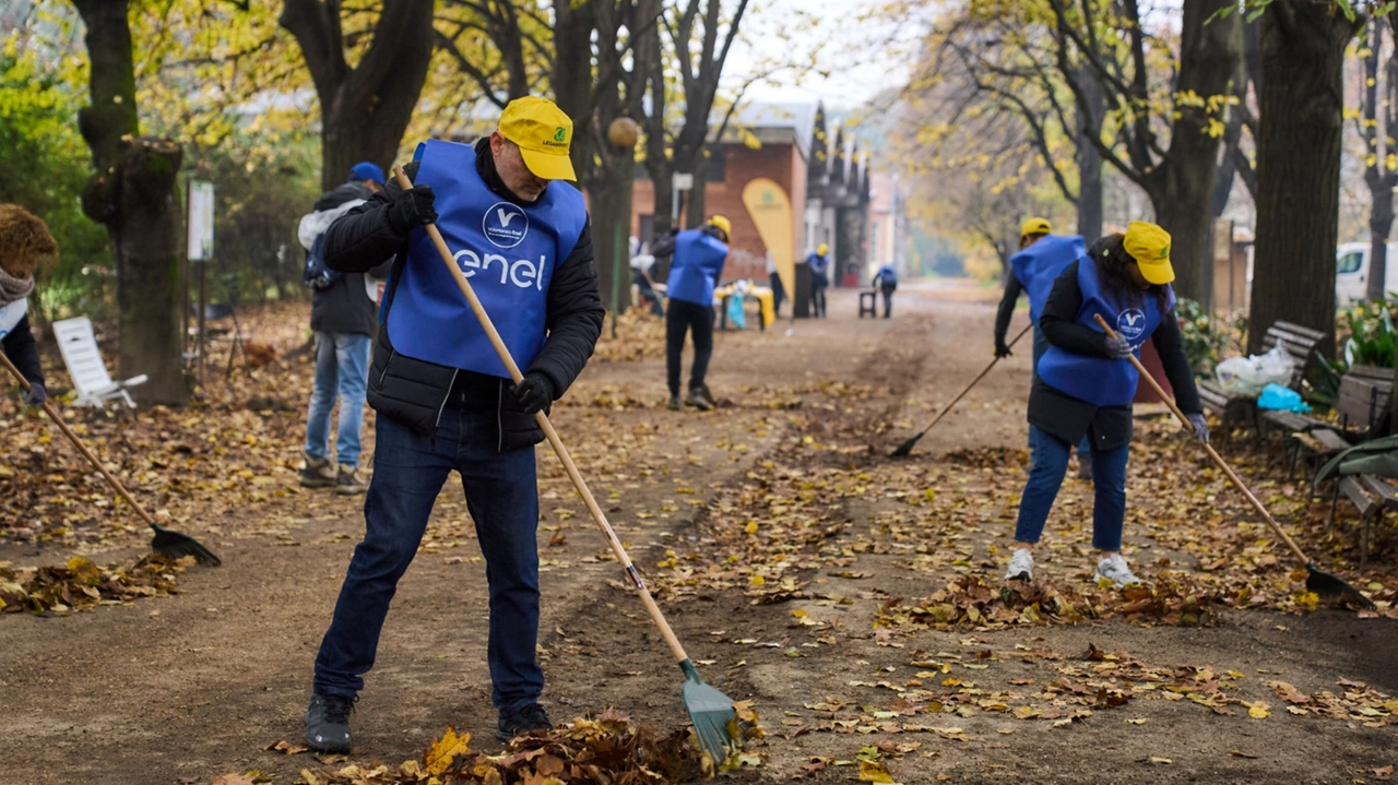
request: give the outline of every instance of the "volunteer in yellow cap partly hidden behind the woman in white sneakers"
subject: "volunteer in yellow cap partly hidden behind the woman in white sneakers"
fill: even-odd
[[[1030,367],[1037,373],[1039,358],[1048,351],[1048,339],[1039,328],[1039,316],[1044,310],[1044,302],[1048,299],[1053,282],[1085,253],[1088,251],[1081,236],[1054,235],[1053,225],[1044,218],[1025,219],[1019,228],[1019,253],[1009,257],[1005,295],[1000,299],[1000,309],[995,311],[997,358],[1004,359],[1011,355],[1009,346],[1005,344],[1005,334],[1009,331],[1009,318],[1015,313],[1019,295],[1026,293],[1029,295],[1029,323],[1035,325],[1033,365]],[[1033,448],[1035,443],[1030,439],[1030,453]],[[1092,479],[1092,447],[1086,439],[1078,443],[1078,478]]]

